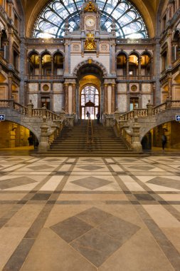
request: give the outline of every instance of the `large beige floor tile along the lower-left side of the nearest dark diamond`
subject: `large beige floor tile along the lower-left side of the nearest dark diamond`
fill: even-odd
[[[21,271],[95,271],[94,266],[50,229],[38,236]]]

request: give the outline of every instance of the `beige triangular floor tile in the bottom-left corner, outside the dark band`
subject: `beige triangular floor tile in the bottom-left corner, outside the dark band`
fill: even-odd
[[[26,234],[28,228],[2,227],[0,230],[0,270]]]

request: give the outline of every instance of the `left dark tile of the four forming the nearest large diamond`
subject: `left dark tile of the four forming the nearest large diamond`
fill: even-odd
[[[51,226],[51,230],[66,242],[72,242],[91,228],[90,225],[76,217],[68,218],[63,220],[63,222]]]

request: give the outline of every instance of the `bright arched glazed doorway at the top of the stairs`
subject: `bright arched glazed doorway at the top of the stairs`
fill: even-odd
[[[100,94],[95,86],[85,86],[80,93],[80,116],[82,119],[90,117],[95,119],[97,112],[100,112]]]

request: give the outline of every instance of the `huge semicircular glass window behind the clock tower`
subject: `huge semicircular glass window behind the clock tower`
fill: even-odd
[[[80,9],[83,0],[53,0],[41,11],[33,27],[34,38],[60,38],[64,36],[65,19],[68,19],[70,31],[80,29]],[[102,31],[111,30],[115,19],[116,35],[122,39],[147,38],[144,19],[135,6],[127,0],[97,0],[101,11]]]

